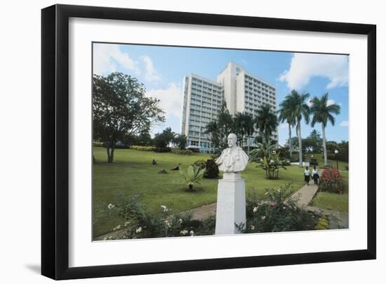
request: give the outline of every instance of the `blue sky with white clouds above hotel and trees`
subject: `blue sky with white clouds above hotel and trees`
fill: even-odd
[[[277,88],[277,105],[295,89],[310,93],[310,98],[328,93],[329,103],[340,105],[335,126],[329,122],[326,139],[348,141],[349,58],[346,55],[246,51],[135,44],[93,44],[93,73],[109,75],[123,72],[145,85],[146,96],[157,97],[166,112],[166,122],[152,128],[155,134],[166,127],[180,133],[182,80],[191,73],[216,80],[218,73],[232,61]],[[307,102],[310,105],[310,101]],[[279,144],[288,138],[288,124],[279,124]],[[312,131],[302,122],[302,137]],[[314,129],[321,133],[321,124]],[[296,136],[295,129],[292,135]]]

